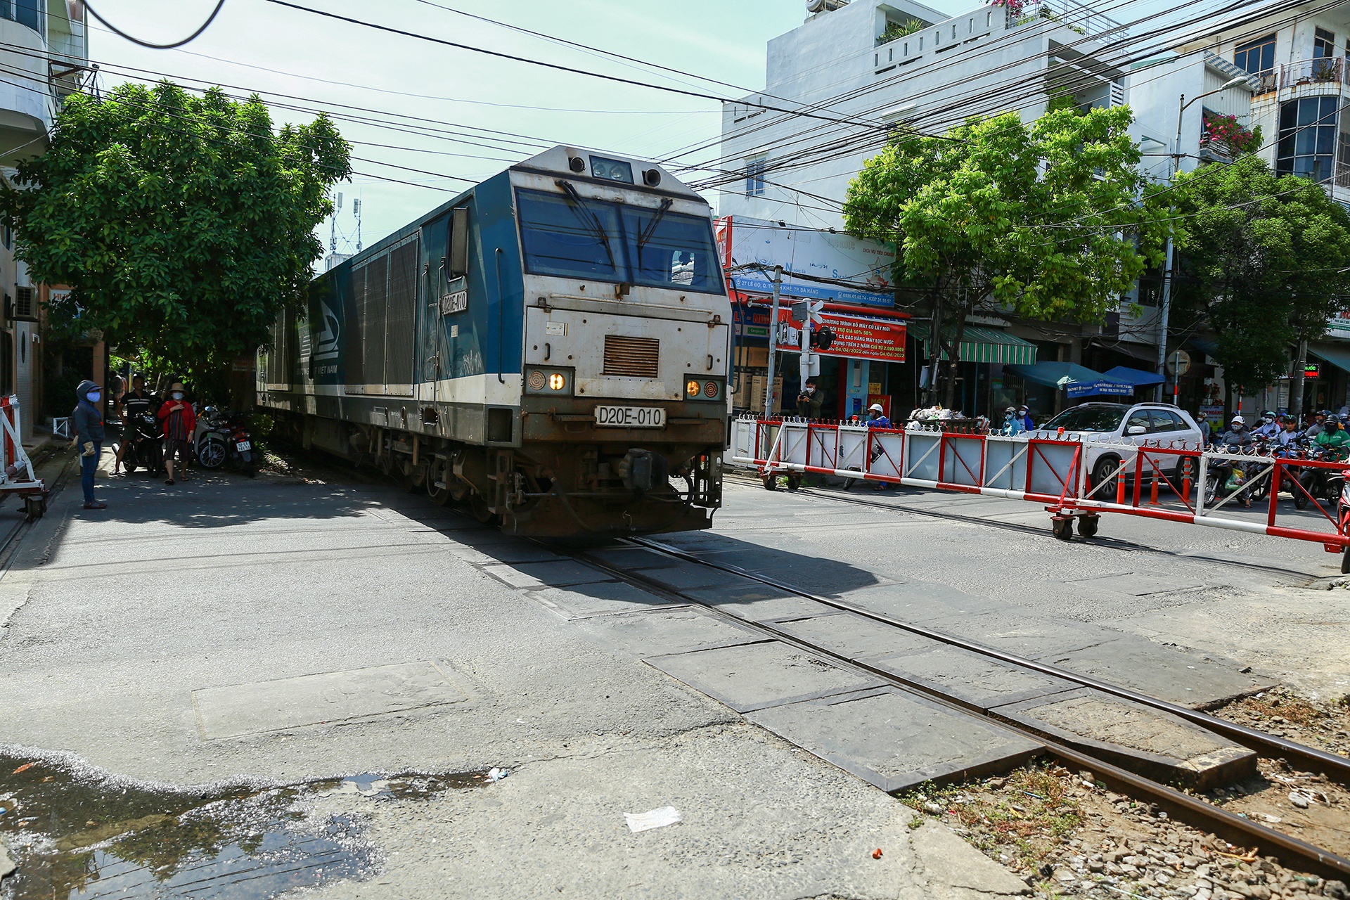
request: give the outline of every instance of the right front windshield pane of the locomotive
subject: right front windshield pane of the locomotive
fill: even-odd
[[[722,293],[722,270],[706,219],[624,206],[624,220],[630,258],[636,262],[636,283]]]

